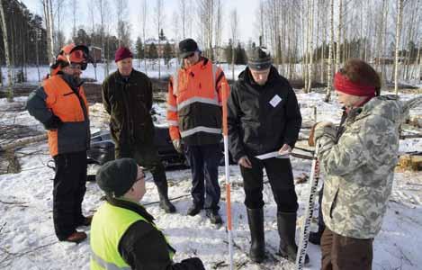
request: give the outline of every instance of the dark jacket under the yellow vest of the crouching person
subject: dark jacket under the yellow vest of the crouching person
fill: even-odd
[[[108,199],[112,205],[139,213],[149,222],[154,217],[140,204],[117,199]],[[150,223],[139,220],[126,230],[119,243],[119,253],[132,269],[148,270],[200,270],[204,269],[198,258],[185,259],[173,264],[168,257],[168,251],[175,252],[170,247],[163,233]]]

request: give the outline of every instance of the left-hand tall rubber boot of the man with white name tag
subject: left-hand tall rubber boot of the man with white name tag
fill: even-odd
[[[251,245],[249,257],[256,263],[265,259],[265,237],[264,237],[264,211],[262,208],[247,208],[247,221],[249,222]]]

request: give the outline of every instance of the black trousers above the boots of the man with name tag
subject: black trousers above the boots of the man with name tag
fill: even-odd
[[[277,211],[296,212],[298,197],[294,190],[292,164],[289,158],[268,158],[264,160],[249,157],[252,168],[240,166],[245,189],[245,205],[249,209],[262,208],[263,200],[263,169],[273,190]]]

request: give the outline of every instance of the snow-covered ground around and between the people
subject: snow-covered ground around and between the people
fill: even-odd
[[[224,68],[231,74],[229,68]],[[238,73],[242,67],[236,68]],[[89,68],[86,74],[90,74]],[[31,72],[32,74],[33,72]],[[169,72],[170,73],[170,72]],[[32,74],[33,75],[33,74]],[[150,76],[155,76],[149,73]],[[35,75],[36,77],[36,75]],[[92,76],[91,76],[92,77]],[[36,79],[35,79],[36,80]],[[305,121],[313,120],[313,107],[318,107],[318,121],[339,121],[340,110],[336,103],[323,103],[322,94],[300,94],[301,112]],[[402,94],[409,99],[412,94]],[[15,98],[13,103],[0,100],[0,124],[19,123],[31,129],[42,130],[26,111],[13,110],[22,107],[26,97]],[[165,113],[164,104],[155,104],[156,111]],[[104,127],[103,120],[95,115],[101,114],[101,104],[94,104],[92,130]],[[422,115],[422,108],[412,110],[413,115]],[[162,122],[163,117],[158,118]],[[401,142],[400,150],[422,151],[422,139],[406,139]],[[31,156],[25,154],[34,153]],[[46,142],[20,148],[17,154],[22,156],[22,171],[18,174],[0,175],[0,269],[89,269],[89,241],[81,244],[58,242],[52,223],[52,178],[54,172],[47,167],[51,159]],[[310,161],[292,157],[294,175],[310,175]],[[94,172],[95,167],[90,171]],[[150,175],[147,180],[148,192],[143,199],[148,211],[157,219],[157,226],[164,230],[170,243],[176,248],[175,261],[186,257],[201,257],[206,269],[229,269],[228,239],[224,226],[215,227],[201,214],[191,217],[185,212],[191,203],[191,174],[189,170],[169,171],[169,194],[177,198],[177,213],[165,214],[158,208],[157,189]],[[224,190],[224,168],[220,167],[221,202],[220,213],[226,220],[226,201]],[[265,245],[268,259],[262,265],[251,263],[247,257],[249,248],[249,230],[247,215],[243,205],[244,193],[238,166],[230,166],[232,181],[232,220],[235,242],[235,269],[293,269],[291,263],[277,257],[278,234],[276,231],[276,206],[269,184],[265,184]],[[83,209],[85,214],[92,214],[102,203],[102,193],[94,183],[87,183]],[[300,209],[299,226],[303,219],[304,202],[309,191],[309,184],[296,184]],[[148,204],[151,203],[152,204]],[[82,228],[89,235],[89,228]],[[373,269],[417,270],[422,268],[422,173],[397,172],[387,215],[382,231],[373,243]],[[319,246],[310,245],[310,265],[306,269],[319,269]]]

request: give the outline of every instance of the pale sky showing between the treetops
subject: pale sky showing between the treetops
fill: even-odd
[[[67,39],[70,37],[70,33],[72,30],[72,22],[73,17],[71,14],[71,5],[70,1],[76,1],[79,6],[79,14],[76,18],[76,27],[84,25],[85,30],[89,30],[92,25],[92,21],[89,16],[88,11],[88,3],[94,2],[94,0],[55,0],[55,1],[66,1],[67,3],[67,13],[63,17],[62,21],[62,28],[63,31],[65,31],[65,35]],[[31,10],[31,12],[36,14],[42,14],[42,8],[41,8],[41,0],[22,0],[24,4]],[[112,22],[112,29],[114,30],[115,22],[117,21],[117,16],[115,15],[115,0],[108,0],[110,4],[110,13],[109,13],[109,20]],[[141,3],[140,0],[127,0],[128,2],[128,17],[129,22],[131,25],[131,39],[132,41],[135,41],[137,36],[141,34],[141,28],[139,25],[139,13],[141,10]],[[195,0],[192,0],[194,3]],[[156,1],[154,0],[148,0],[148,37],[153,37],[152,35],[155,33],[154,27],[154,14],[155,14],[155,6]],[[164,24],[164,31],[167,37],[174,38],[174,32],[173,29],[175,28],[173,23],[173,14],[175,11],[178,11],[177,4],[179,3],[178,0],[164,0],[164,14],[165,14],[165,24]],[[231,11],[236,9],[238,11],[238,35],[240,37],[240,40],[247,41],[249,39],[252,39],[254,41],[257,41],[257,34],[255,33],[256,27],[256,8],[259,4],[258,0],[226,0],[221,1],[222,3],[222,10],[223,10],[223,42],[227,42],[229,40],[230,35],[230,23],[229,23],[229,16]],[[193,38],[196,38],[197,35],[197,29],[199,29],[199,26],[197,25],[196,21],[196,12],[194,10],[194,7],[188,7],[188,14],[191,14],[192,19],[188,20],[189,23],[193,23]],[[96,22],[99,22],[99,18],[95,20]],[[154,29],[154,31],[153,31]]]

